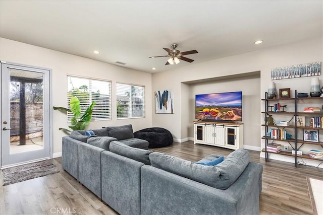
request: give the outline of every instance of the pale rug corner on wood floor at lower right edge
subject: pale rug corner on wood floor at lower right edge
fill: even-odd
[[[314,178],[308,178],[307,181],[310,184],[309,190],[314,214],[323,215],[323,181]]]

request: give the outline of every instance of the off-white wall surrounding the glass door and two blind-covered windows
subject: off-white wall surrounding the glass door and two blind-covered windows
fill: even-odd
[[[112,81],[112,120],[93,121],[89,129],[124,124],[132,124],[134,131],[151,127],[151,74],[5,38],[0,38],[0,47],[0,60],[52,69],[53,106],[67,106],[67,74]],[[117,120],[117,82],[145,86],[145,118]],[[68,127],[67,116],[53,111],[53,153],[62,151],[62,137],[66,135],[59,127]]]

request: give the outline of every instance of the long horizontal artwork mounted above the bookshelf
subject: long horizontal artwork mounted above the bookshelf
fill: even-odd
[[[272,69],[272,80],[293,79],[321,75],[321,62],[277,67]]]

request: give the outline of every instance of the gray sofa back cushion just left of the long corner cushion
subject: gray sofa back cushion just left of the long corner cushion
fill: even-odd
[[[150,165],[149,154],[152,153],[150,150],[133,148],[122,142],[113,141],[110,144],[110,152]]]

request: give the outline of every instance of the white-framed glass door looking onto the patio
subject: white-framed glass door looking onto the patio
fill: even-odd
[[[1,69],[2,167],[50,157],[49,70]]]

